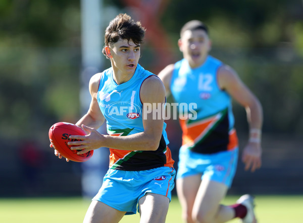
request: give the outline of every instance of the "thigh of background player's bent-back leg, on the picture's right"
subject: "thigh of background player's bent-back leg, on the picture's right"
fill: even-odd
[[[193,215],[214,218],[220,208],[220,202],[226,196],[228,187],[220,182],[205,179],[201,182],[193,206]]]

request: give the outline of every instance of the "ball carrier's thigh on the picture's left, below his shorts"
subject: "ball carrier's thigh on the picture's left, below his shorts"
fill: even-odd
[[[117,210],[97,200],[91,201],[83,223],[119,222],[126,212]]]

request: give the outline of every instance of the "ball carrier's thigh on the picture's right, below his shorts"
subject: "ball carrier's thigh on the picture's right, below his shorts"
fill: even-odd
[[[140,223],[165,222],[169,198],[154,193],[146,193],[139,199]]]

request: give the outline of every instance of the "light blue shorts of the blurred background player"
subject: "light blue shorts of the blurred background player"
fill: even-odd
[[[216,154],[199,154],[181,147],[177,179],[201,174],[201,180],[208,179],[230,188],[238,162],[238,147]]]

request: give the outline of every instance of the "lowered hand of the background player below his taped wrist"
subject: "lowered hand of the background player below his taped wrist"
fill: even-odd
[[[262,165],[261,161],[262,148],[257,142],[248,142],[242,153],[242,162],[245,164],[245,171],[255,172]]]

